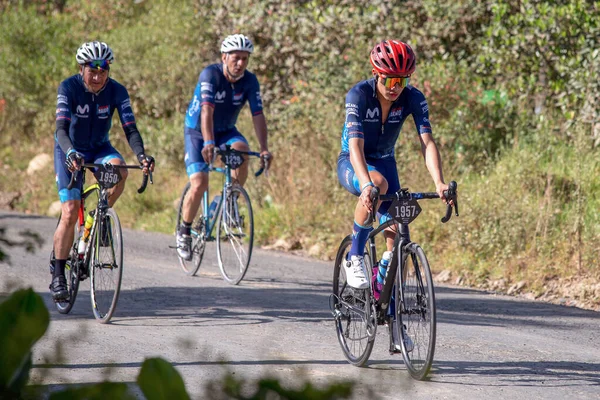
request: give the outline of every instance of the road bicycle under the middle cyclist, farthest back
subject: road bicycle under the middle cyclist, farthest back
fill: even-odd
[[[231,171],[237,169],[245,161],[244,155],[261,158],[260,153],[253,151],[235,150],[229,145],[215,148],[215,153],[210,163],[209,172],[223,174],[223,189],[216,204],[209,206],[208,190],[204,192],[199,215],[192,223],[192,258],[187,261],[179,257],[179,264],[187,275],[196,275],[206,243],[217,242],[217,261],[223,279],[232,284],[240,283],[250,264],[252,246],[254,244],[254,217],[252,204],[246,190],[231,177]],[[215,166],[215,161],[220,158],[223,167]],[[268,159],[263,157],[263,165],[254,175],[259,176],[268,169]],[[185,198],[190,190],[188,182],[181,194],[175,236],[182,223],[182,212]],[[216,228],[216,235],[213,230]],[[171,246],[176,248],[177,246]]]

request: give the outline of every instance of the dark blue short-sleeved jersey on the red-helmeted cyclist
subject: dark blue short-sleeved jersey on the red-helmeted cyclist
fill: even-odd
[[[342,131],[342,153],[349,153],[348,141],[364,139],[366,158],[394,156],[394,145],[400,129],[409,115],[413,116],[417,132],[431,133],[429,108],[423,93],[407,86],[392,104],[387,120],[382,123],[381,104],[377,99],[375,78],[356,84],[346,95],[346,122]]]

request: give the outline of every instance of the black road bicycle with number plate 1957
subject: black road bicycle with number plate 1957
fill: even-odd
[[[451,202],[443,223],[451,218],[453,206],[458,216],[457,184],[452,181],[448,186],[444,195]],[[423,380],[431,369],[435,352],[435,293],[429,262],[421,246],[410,240],[408,225],[421,213],[418,200],[439,199],[439,195],[411,193],[408,189],[379,195],[379,189],[374,188],[371,199],[373,204],[378,200],[392,203],[388,209],[391,218],[369,234],[364,254],[366,276],[373,276],[373,267],[377,265],[375,239],[385,229],[395,233],[392,259],[376,300],[373,285],[359,290],[347,284],[343,264],[348,259],[352,238],[349,235],[342,240],[335,259],[330,296],[337,338],[346,359],[353,365],[363,366],[373,350],[377,327],[385,325],[390,354],[401,352],[410,375]],[[373,218],[374,211],[371,211],[369,219]]]

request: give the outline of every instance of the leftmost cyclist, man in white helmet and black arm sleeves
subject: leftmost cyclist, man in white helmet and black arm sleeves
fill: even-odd
[[[125,164],[108,138],[115,110],[129,146],[144,165],[144,172],[154,168],[154,158],[146,155],[137,129],[127,89],[108,76],[114,61],[111,48],[104,42],[87,42],[79,47],[75,59],[79,73],[62,81],[56,99],[54,170],[62,211],[54,233],[54,260],[50,265],[50,291],[56,301],[68,297],[65,263],[73,243],[81,201],[81,179],[72,189],[67,188],[71,174],[78,173],[84,162]],[[120,173],[123,180],[110,189],[108,202],[111,207],[125,187],[127,170]]]

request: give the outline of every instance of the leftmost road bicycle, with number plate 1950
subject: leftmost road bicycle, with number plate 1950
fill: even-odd
[[[84,186],[86,169],[93,171],[97,182],[86,187],[81,194],[75,237],[65,267],[69,295],[66,300],[55,302],[56,309],[61,314],[71,311],[77,298],[79,283],[88,277],[94,317],[101,323],[107,323],[115,312],[123,277],[123,237],[117,212],[108,206],[108,189],[121,181],[120,170],[124,168],[142,169],[143,166],[86,163],[81,166],[80,173],[71,175],[67,189],[73,188],[78,175],[81,175],[81,186]],[[152,172],[144,174],[138,193],[146,190],[148,179],[153,183]],[[92,208],[89,214],[86,213],[88,207]],[[82,235],[88,215],[92,216],[93,223],[85,240]],[[58,220],[60,221],[60,217]],[[81,243],[82,239],[85,244]],[[54,250],[50,255],[50,265],[53,268]]]

